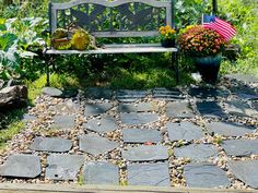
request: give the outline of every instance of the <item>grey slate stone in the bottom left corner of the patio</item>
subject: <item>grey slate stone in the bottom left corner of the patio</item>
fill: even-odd
[[[34,155],[14,154],[0,166],[1,177],[36,178],[40,172],[40,157]]]

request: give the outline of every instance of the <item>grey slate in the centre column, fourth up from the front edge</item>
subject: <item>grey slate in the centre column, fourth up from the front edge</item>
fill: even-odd
[[[120,119],[122,124],[146,124],[159,121],[159,116],[156,113],[131,112],[120,113]]]

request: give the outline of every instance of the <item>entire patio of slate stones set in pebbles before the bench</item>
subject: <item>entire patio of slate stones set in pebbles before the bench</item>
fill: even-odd
[[[258,189],[258,84],[230,79],[216,88],[44,88],[0,155],[0,182]]]

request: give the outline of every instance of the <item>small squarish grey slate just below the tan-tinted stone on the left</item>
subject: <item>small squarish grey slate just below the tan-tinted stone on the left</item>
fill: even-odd
[[[54,123],[51,124],[52,129],[57,130],[71,130],[75,124],[74,116],[55,116]]]

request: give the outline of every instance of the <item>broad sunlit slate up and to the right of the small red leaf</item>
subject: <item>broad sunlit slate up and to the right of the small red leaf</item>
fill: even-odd
[[[166,123],[168,131],[168,137],[171,141],[192,141],[200,140],[204,137],[204,134],[200,126],[191,122],[180,122],[180,123]]]

